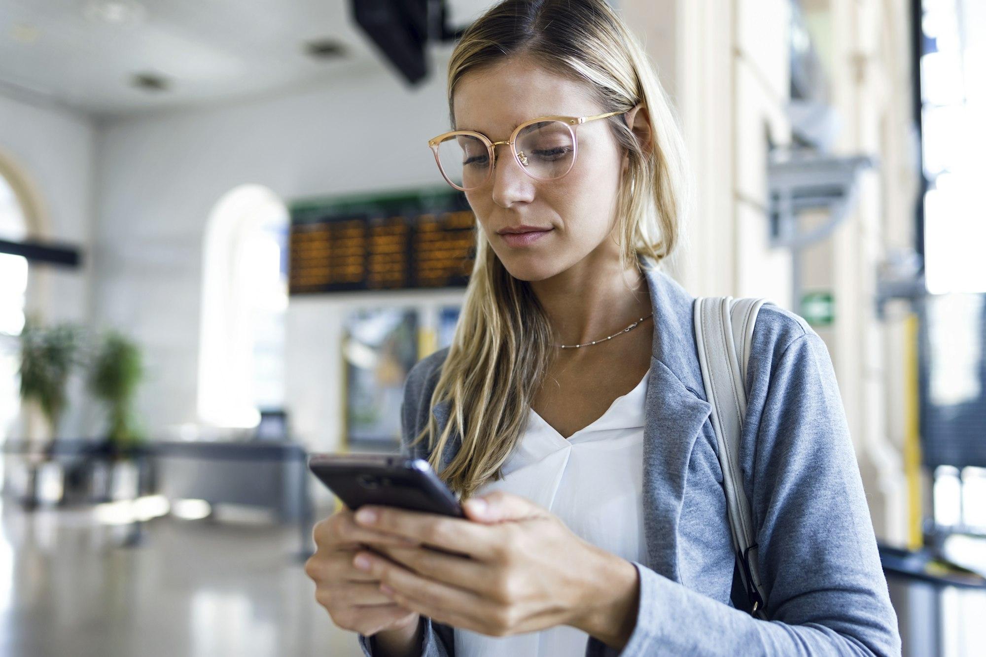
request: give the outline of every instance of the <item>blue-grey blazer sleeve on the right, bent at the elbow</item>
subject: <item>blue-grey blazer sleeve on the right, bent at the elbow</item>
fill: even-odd
[[[634,630],[618,651],[590,637],[587,657],[900,654],[825,343],[806,330],[769,368],[765,394],[751,402],[761,408],[759,429],[743,464],[769,620],[633,562],[640,577]]]

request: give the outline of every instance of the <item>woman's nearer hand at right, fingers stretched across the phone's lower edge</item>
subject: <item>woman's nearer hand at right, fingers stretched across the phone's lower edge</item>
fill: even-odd
[[[639,595],[632,563],[583,541],[518,495],[496,491],[463,507],[467,519],[360,508],[356,522],[362,527],[421,544],[375,546],[386,558],[367,550],[357,554],[369,560],[365,572],[380,580],[390,600],[490,636],[569,624],[607,644],[625,643]],[[365,511],[377,520],[364,522]]]

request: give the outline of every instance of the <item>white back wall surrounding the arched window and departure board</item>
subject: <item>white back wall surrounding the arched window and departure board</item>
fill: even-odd
[[[436,70],[444,63],[436,62]],[[292,199],[442,183],[429,137],[448,129],[445,81],[408,90],[379,69],[275,99],[116,120],[100,128],[96,318],[145,347],[140,400],[155,437],[197,420],[205,222],[243,183]],[[380,134],[393,134],[381,151]],[[367,137],[372,135],[372,137]],[[373,148],[370,146],[373,145]],[[331,451],[341,429],[339,337],[345,310],[460,290],[292,299],[287,404],[300,438]]]

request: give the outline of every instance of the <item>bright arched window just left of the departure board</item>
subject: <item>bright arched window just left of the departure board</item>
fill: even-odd
[[[284,404],[288,211],[266,187],[227,193],[204,245],[199,415],[220,427],[254,427]]]

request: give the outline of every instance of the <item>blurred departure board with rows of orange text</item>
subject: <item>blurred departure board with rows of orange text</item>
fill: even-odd
[[[289,292],[464,286],[474,226],[464,194],[448,187],[297,201]]]

